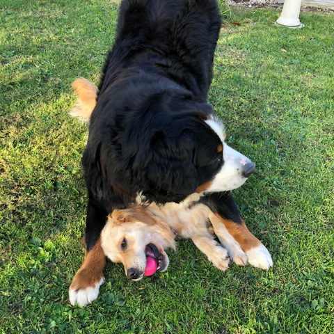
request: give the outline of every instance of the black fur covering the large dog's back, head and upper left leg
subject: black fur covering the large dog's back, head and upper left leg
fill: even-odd
[[[220,27],[216,0],[122,1],[81,159],[88,251],[106,215],[138,193],[180,202],[221,168],[221,140],[205,123]],[[207,205],[221,198],[210,195]]]

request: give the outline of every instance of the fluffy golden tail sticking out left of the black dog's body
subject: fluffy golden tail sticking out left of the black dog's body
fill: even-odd
[[[70,111],[70,115],[79,118],[82,122],[89,122],[90,115],[96,104],[97,88],[87,79],[76,79],[72,88],[78,100]]]

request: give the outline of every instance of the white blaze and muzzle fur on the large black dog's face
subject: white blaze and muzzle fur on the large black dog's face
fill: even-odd
[[[223,144],[223,166],[212,180],[212,185],[205,191],[214,192],[237,189],[246,182],[247,177],[244,176],[244,171],[253,165],[253,162],[225,143],[225,130],[219,120],[213,118],[207,120],[206,123],[221,138]]]

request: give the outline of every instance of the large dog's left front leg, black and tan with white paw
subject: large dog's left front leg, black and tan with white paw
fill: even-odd
[[[81,307],[97,299],[100,285],[104,283],[103,269],[106,257],[100,234],[106,223],[106,212],[94,200],[88,200],[86,219],[86,250],[84,262],[70,286],[70,303]]]

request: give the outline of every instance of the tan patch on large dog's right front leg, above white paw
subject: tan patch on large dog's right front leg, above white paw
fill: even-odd
[[[233,221],[229,221],[218,214],[215,215],[225,225],[226,230],[228,230],[232,237],[238,242],[244,252],[262,245],[262,242],[249,232],[244,221],[242,221],[241,224],[234,223]]]

